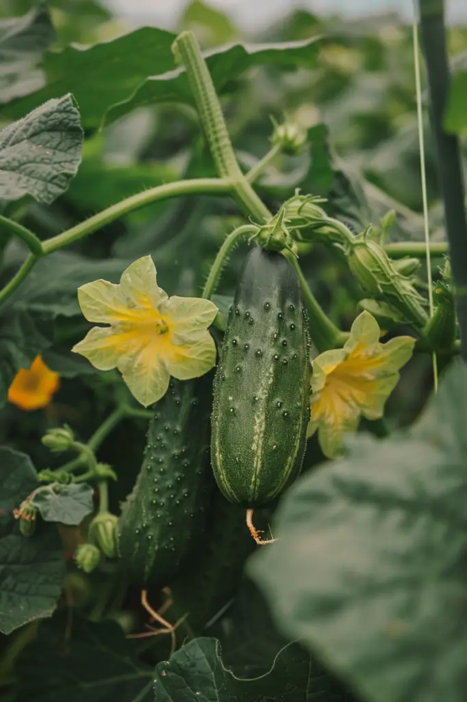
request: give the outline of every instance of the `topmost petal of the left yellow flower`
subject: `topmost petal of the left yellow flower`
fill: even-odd
[[[156,266],[151,256],[133,261],[121,274],[121,292],[130,307],[152,307],[167,300],[167,293],[157,284]]]

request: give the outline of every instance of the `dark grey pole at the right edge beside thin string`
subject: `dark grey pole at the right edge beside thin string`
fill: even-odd
[[[459,138],[443,126],[449,88],[449,62],[443,0],[419,0],[420,34],[430,95],[438,181],[445,208],[451,253],[452,279],[461,336],[461,355],[467,361],[467,220]]]

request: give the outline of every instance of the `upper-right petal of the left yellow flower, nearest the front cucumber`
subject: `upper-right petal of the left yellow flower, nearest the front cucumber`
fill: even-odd
[[[218,312],[210,300],[177,295],[165,300],[159,310],[168,319],[174,344],[190,344],[203,338]]]

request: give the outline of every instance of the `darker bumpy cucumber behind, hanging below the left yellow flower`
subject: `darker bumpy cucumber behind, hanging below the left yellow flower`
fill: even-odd
[[[213,371],[171,380],[149,423],[140,475],[122,505],[118,548],[134,583],[163,587],[203,536]]]

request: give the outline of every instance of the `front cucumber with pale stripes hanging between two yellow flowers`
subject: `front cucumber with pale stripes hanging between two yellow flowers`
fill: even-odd
[[[215,373],[211,463],[222,494],[271,503],[297,477],[309,422],[309,326],[292,266],[256,247],[245,259]]]

